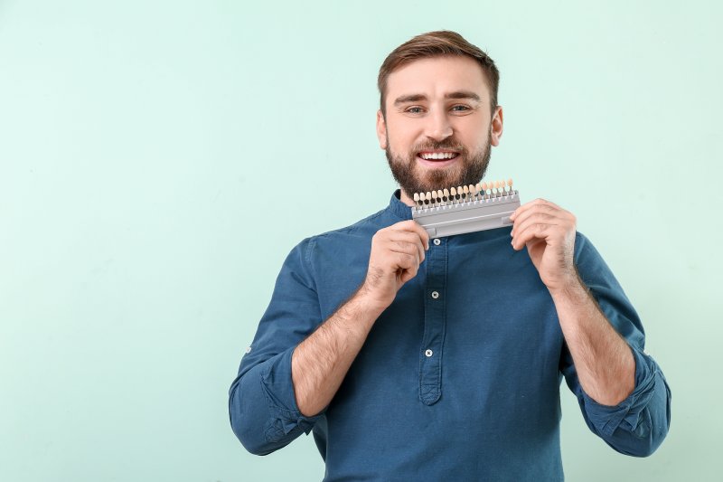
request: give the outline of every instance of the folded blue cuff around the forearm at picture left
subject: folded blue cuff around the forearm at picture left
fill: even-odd
[[[270,363],[261,371],[261,390],[271,415],[264,430],[268,442],[284,439],[295,430],[304,430],[308,435],[315,422],[324,414],[322,411],[313,417],[305,417],[296,405],[291,378],[291,355],[295,348],[291,347],[269,360]]]

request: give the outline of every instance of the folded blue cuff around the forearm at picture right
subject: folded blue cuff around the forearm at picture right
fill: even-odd
[[[653,397],[658,366],[650,356],[640,353],[633,347],[631,351],[635,360],[635,388],[623,402],[613,406],[601,405],[590,398],[584,390],[580,390],[587,418],[597,432],[605,437],[611,436],[618,428],[635,432],[638,436],[645,435],[638,433],[639,431],[650,430],[650,427],[642,426],[640,415]]]

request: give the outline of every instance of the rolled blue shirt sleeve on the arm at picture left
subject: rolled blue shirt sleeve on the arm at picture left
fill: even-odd
[[[256,455],[267,455],[302,432],[308,434],[323,414],[301,414],[291,379],[296,345],[322,321],[308,262],[311,247],[312,239],[307,238],[286,257],[256,336],[230,386],[231,428],[241,444]]]

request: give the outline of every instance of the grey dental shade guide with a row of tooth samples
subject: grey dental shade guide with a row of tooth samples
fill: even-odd
[[[512,226],[510,215],[520,207],[520,194],[509,179],[507,189],[504,181],[469,184],[415,193],[414,202],[412,219],[439,238]]]

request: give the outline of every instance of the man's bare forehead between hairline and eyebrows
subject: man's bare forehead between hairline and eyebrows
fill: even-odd
[[[470,90],[489,99],[489,88],[482,67],[470,57],[446,56],[412,61],[390,73],[387,79],[387,105],[399,96],[424,94],[444,99],[445,93]]]

